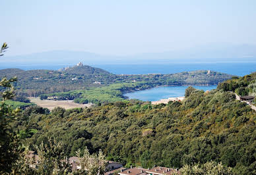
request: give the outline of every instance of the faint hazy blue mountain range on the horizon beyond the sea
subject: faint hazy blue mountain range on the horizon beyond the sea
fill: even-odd
[[[48,51],[1,57],[1,64],[85,64],[256,62],[256,45],[210,44],[181,51],[129,56],[99,55],[85,51]]]

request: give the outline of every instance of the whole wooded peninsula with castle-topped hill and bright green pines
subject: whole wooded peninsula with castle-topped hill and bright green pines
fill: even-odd
[[[123,94],[156,86],[216,85],[232,78],[210,70],[176,74],[112,74],[82,63],[61,70],[0,70],[0,78],[17,76],[16,94],[40,99],[106,103],[127,100]]]

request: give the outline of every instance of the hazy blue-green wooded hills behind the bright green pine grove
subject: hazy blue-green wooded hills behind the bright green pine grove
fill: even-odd
[[[65,70],[0,70],[0,78],[18,77],[16,94],[39,96],[41,94],[71,90],[95,89],[113,84],[129,84],[136,89],[155,86],[214,85],[232,78],[229,74],[207,70],[180,72],[176,74],[117,75],[91,66],[74,66]],[[135,84],[135,85],[134,85]],[[136,84],[139,84],[137,86]],[[126,88],[126,89],[129,89]],[[125,88],[123,88],[125,89]],[[123,92],[123,90],[122,90]]]

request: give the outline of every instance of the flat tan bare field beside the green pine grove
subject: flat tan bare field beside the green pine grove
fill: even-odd
[[[78,103],[74,103],[73,100],[41,100],[39,97],[28,97],[32,103],[36,103],[36,105],[44,108],[48,108],[50,111],[55,107],[63,107],[65,109],[73,109],[77,107],[90,107],[91,104],[80,105]]]

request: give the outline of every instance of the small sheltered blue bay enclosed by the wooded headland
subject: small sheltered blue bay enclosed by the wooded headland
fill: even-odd
[[[146,89],[143,91],[135,91],[125,93],[124,95],[129,99],[139,99],[142,101],[158,101],[160,99],[167,99],[168,97],[183,97],[185,89],[188,86],[168,86]],[[217,86],[193,86],[196,89],[203,89],[204,91],[216,89]]]

